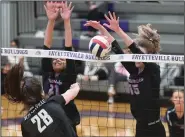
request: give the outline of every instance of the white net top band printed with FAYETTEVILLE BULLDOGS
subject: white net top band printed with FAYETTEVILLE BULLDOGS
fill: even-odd
[[[91,62],[163,62],[184,64],[183,55],[160,55],[160,54],[119,54],[109,55],[103,58],[95,57],[89,53],[73,52],[64,50],[41,50],[41,49],[15,49],[1,48],[1,56],[24,56],[37,58],[66,58]]]

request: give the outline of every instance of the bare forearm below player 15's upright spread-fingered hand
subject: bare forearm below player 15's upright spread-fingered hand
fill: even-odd
[[[127,47],[129,47],[133,43],[132,38],[128,36],[120,27],[119,30],[116,31],[116,33],[122,38]]]

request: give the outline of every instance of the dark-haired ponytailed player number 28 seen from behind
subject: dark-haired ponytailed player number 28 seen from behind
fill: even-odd
[[[77,83],[62,95],[46,98],[36,78],[23,77],[24,66],[16,64],[7,73],[5,91],[8,99],[22,103],[28,111],[21,123],[23,137],[76,137],[64,107],[73,100],[80,87]]]

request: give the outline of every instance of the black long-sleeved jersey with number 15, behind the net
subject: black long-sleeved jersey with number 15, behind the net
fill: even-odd
[[[142,54],[134,42],[129,49],[133,54]],[[123,54],[117,41],[112,43],[112,50],[116,54]],[[122,64],[130,73],[128,82],[132,115],[141,122],[150,123],[159,120],[160,67],[155,63],[144,63],[145,68],[139,73],[134,62],[122,62]]]

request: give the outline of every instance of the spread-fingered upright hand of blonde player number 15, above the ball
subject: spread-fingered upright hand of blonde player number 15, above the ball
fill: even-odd
[[[119,17],[116,17],[115,12],[111,14],[109,11],[109,17],[105,15],[106,20],[109,22],[109,25],[107,23],[104,23],[103,25],[115,32],[119,31]]]

